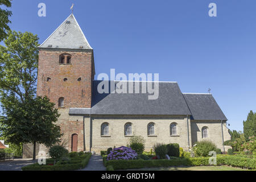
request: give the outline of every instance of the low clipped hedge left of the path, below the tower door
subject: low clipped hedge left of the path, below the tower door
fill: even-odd
[[[22,167],[22,171],[69,171],[82,169],[85,168],[85,166],[88,164],[91,155],[92,154],[88,154],[86,156],[75,157],[75,159],[72,158],[72,164],[55,164],[54,166],[48,166],[35,163]],[[47,160],[47,164],[49,164],[49,162],[52,162],[52,159]]]

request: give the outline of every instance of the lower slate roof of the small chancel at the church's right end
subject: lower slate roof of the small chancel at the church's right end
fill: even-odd
[[[220,106],[214,100],[212,94],[183,93],[195,120],[223,120],[228,119],[223,114]]]

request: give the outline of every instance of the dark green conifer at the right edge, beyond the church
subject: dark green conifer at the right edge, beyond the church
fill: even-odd
[[[256,113],[251,110],[247,116],[247,120],[243,121],[243,133],[245,134],[246,141],[249,141],[249,137],[256,135]]]

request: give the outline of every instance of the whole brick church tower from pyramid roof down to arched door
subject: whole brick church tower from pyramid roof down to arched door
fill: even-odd
[[[37,95],[47,96],[61,114],[57,125],[69,151],[85,151],[85,119],[72,117],[69,108],[92,106],[95,75],[93,49],[73,14],[39,46]],[[87,132],[88,133],[88,132]],[[88,140],[86,140],[88,143]],[[47,151],[37,144],[38,151]],[[32,145],[23,145],[23,158],[31,158]]]

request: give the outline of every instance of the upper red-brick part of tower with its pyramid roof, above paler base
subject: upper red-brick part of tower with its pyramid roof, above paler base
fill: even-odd
[[[71,14],[39,46],[37,95],[59,109],[90,108],[94,75],[93,49]]]

